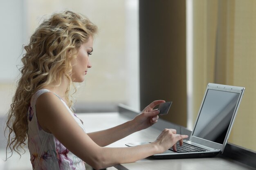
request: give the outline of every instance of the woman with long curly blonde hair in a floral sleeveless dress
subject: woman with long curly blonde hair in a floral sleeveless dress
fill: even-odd
[[[97,26],[71,11],[44,20],[25,46],[21,78],[9,110],[7,148],[18,152],[26,144],[34,170],[84,170],[84,161],[95,169],[128,163],[175,149],[186,135],[165,129],[150,144],[108,148],[127,135],[148,128],[158,119],[157,100],[124,124],[86,133],[83,122],[72,112],[70,87],[83,82],[92,65],[93,38]],[[11,132],[15,135],[11,137]],[[18,152],[19,153],[19,152]]]

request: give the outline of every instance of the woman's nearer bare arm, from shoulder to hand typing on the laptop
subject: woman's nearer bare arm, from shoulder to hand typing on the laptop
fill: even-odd
[[[82,130],[63,103],[52,93],[44,93],[38,97],[36,113],[38,122],[44,130],[51,132],[68,150],[95,169],[146,158],[167,150],[178,140],[186,137],[184,135],[176,136],[170,130],[165,130],[155,142],[150,144],[126,148],[106,148],[97,145]]]

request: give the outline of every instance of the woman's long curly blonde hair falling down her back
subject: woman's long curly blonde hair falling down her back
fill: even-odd
[[[27,110],[36,91],[52,82],[61,84],[61,78],[65,76],[70,82],[65,99],[71,108],[71,60],[76,57],[81,44],[87,42],[90,36],[94,37],[97,30],[97,26],[84,15],[63,11],[44,20],[31,35],[29,44],[24,47],[26,53],[21,59],[21,77],[8,112],[5,128],[5,132],[9,130],[6,157],[8,149],[11,150],[11,156],[13,150],[19,155],[19,148],[24,150],[27,139]]]

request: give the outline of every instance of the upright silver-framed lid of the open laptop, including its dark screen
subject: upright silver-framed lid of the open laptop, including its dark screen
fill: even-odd
[[[244,90],[209,83],[189,141],[223,152]]]

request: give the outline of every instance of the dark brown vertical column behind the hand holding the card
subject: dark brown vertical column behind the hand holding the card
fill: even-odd
[[[186,1],[139,0],[140,103],[173,104],[162,118],[186,126]]]

